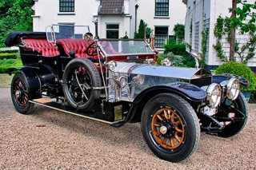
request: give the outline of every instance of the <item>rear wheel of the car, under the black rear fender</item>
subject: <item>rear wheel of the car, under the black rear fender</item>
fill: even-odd
[[[29,102],[28,85],[22,73],[14,75],[10,85],[10,96],[18,113],[29,114],[33,111],[34,104]]]

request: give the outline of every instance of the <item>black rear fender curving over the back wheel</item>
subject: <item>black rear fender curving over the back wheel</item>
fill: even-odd
[[[9,75],[11,73],[19,71],[22,73],[22,76],[24,80],[26,81],[26,85],[28,86],[28,91],[29,91],[29,99],[36,99],[36,98],[41,98],[41,81],[40,78],[38,77],[38,74],[35,73],[34,69],[28,68],[28,67],[22,67],[22,68],[12,68],[6,70]]]

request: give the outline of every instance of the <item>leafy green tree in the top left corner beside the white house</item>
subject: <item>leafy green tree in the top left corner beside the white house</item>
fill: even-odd
[[[31,15],[33,0],[1,0],[0,2],[0,47],[12,31],[33,30]]]

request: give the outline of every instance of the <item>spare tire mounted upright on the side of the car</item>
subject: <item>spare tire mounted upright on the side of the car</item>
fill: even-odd
[[[102,86],[98,69],[86,58],[74,58],[66,65],[63,82],[66,101],[75,109],[90,110],[94,106],[94,100],[100,97],[100,90],[93,89]]]

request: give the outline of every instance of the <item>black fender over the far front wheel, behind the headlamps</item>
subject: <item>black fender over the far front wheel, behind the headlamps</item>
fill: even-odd
[[[213,76],[213,83],[221,83],[222,81],[228,81],[230,78],[236,78],[240,81],[240,85],[244,87],[250,86],[250,81],[248,81],[246,78],[231,74],[231,73],[221,73]]]

